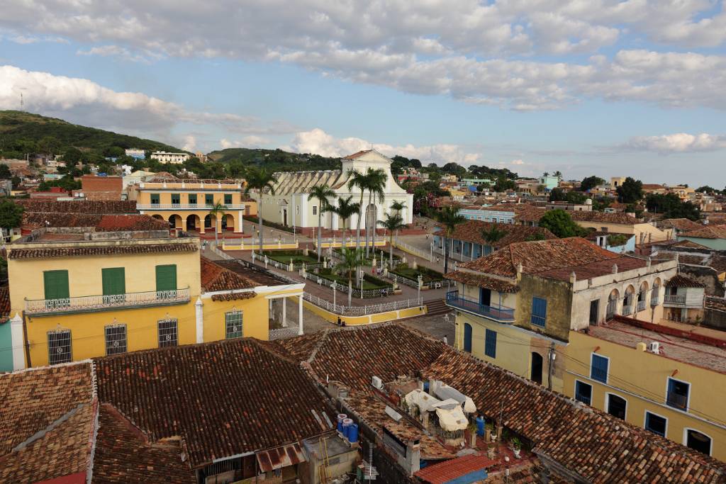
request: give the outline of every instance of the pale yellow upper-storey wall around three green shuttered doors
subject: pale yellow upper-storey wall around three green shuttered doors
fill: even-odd
[[[155,266],[166,264],[176,264],[176,287],[178,289],[189,287],[190,295],[195,298],[200,292],[199,252],[11,258],[8,260],[8,276],[12,313],[25,309],[26,298],[28,300],[45,298],[44,271],[67,270],[70,297],[76,298],[102,295],[101,269],[112,267],[125,268],[127,293],[155,291]]]

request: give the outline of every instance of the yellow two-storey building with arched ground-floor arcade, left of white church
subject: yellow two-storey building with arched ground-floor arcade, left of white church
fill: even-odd
[[[242,233],[242,217],[257,215],[257,203],[243,194],[242,181],[152,179],[129,187],[139,213],[168,221],[171,229],[205,234],[215,229]],[[210,210],[224,207],[216,216]]]

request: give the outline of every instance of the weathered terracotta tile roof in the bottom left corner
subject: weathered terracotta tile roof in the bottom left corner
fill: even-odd
[[[0,482],[85,482],[97,403],[88,361],[0,374]]]

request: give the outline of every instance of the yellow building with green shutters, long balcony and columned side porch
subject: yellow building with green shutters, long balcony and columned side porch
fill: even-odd
[[[194,237],[58,230],[9,245],[15,369],[225,338],[267,340],[271,323],[287,327],[287,298],[301,300],[303,284],[201,258]],[[284,331],[301,332],[302,321]]]

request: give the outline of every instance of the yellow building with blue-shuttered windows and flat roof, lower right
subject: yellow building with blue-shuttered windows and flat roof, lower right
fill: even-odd
[[[726,340],[616,316],[571,332],[564,393],[726,461]]]

